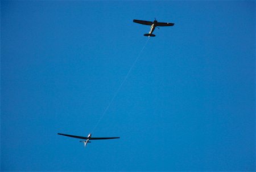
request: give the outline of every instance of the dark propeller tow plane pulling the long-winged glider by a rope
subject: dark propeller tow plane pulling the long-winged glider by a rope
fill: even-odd
[[[145,25],[150,25],[150,31],[146,34],[144,34],[144,36],[155,36],[153,33],[153,31],[155,30],[155,27],[157,27],[159,29],[159,26],[173,26],[174,23],[163,23],[163,22],[158,22],[156,19],[154,21],[144,21],[144,20],[133,20],[133,22],[135,23],[139,23],[139,24],[145,24]]]

